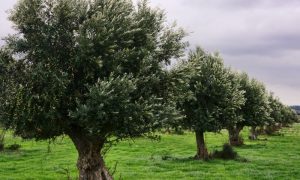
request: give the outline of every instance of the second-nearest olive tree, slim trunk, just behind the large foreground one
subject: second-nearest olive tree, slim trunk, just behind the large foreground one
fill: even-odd
[[[178,107],[185,118],[183,127],[196,134],[196,159],[208,158],[204,141],[205,132],[218,132],[229,123],[238,121],[235,111],[244,103],[243,91],[235,83],[230,69],[225,68],[218,55],[197,48],[187,62],[174,69],[181,76],[185,97]]]

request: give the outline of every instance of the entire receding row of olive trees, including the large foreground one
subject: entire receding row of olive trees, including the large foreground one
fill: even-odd
[[[231,145],[251,127],[273,133],[298,121],[265,86],[196,48],[146,1],[23,0],[11,11],[18,32],[0,50],[0,123],[25,139],[70,137],[79,179],[112,179],[103,153],[115,142],[162,130],[228,129]],[[171,60],[175,66],[166,67]]]

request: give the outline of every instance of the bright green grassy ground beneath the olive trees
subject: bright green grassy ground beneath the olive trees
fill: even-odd
[[[194,134],[162,135],[161,141],[121,142],[106,155],[116,179],[300,179],[300,124],[281,131],[283,136],[261,136],[235,148],[248,162],[195,161]],[[247,132],[243,131],[247,139]],[[226,131],[207,133],[209,150],[221,149]],[[68,138],[47,142],[7,137],[7,145],[20,143],[17,152],[0,153],[0,179],[76,179],[77,153]]]

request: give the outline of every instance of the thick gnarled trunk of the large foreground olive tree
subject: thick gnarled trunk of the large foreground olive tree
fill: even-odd
[[[113,177],[105,167],[100,154],[104,141],[91,140],[78,135],[70,137],[78,151],[79,180],[112,180]]]

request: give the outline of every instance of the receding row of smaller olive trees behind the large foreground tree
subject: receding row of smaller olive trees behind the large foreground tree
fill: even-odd
[[[227,129],[231,145],[242,145],[240,131],[251,127],[251,139],[257,138],[257,127],[273,133],[281,126],[297,122],[297,115],[284,106],[265,86],[246,73],[226,68],[218,54],[201,48],[191,52],[188,61],[179,63],[170,76],[176,83],[176,102],[184,118],[177,122],[196,134],[196,158],[208,158],[205,132]],[[180,90],[178,90],[178,87]]]

